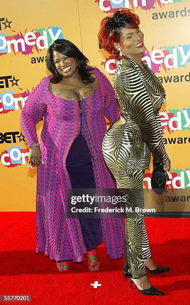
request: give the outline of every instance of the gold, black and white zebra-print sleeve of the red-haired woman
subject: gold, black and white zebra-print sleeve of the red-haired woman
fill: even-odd
[[[140,133],[143,141],[152,151],[166,162],[168,155],[163,136],[156,118],[149,93],[140,74],[131,66],[119,71],[115,83],[119,106],[125,105],[134,131]]]

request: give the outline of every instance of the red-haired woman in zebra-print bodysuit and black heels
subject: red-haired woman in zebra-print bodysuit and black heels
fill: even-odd
[[[120,118],[108,128],[102,151],[115,177],[128,210],[125,218],[125,259],[123,275],[136,284],[141,294],[163,295],[151,286],[146,275],[169,271],[151,258],[143,214],[143,175],[149,167],[151,150],[170,170],[165,150],[159,110],[165,90],[151,69],[141,60],[145,51],[139,17],[130,9],[117,9],[103,18],[98,33],[102,47],[120,59],[113,76]]]

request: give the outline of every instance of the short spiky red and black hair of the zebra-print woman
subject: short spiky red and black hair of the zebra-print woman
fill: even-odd
[[[116,9],[112,16],[107,16],[101,20],[97,34],[99,44],[115,59],[119,59],[119,51],[114,48],[113,42],[119,42],[120,40],[120,27],[138,28],[139,24],[139,17],[131,9]]]

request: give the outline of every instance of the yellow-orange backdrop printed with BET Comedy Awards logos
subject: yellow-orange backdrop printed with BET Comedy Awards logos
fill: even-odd
[[[99,50],[100,20],[116,8],[139,15],[143,61],[162,82],[167,100],[160,117],[172,162],[168,193],[148,192],[157,211],[190,211],[190,1],[189,0],[10,0],[0,10],[0,211],[34,211],[36,169],[27,167],[28,147],[20,112],[32,88],[47,76],[46,53],[57,38],[75,43],[112,83],[117,62]],[[43,122],[37,125],[38,137]],[[109,122],[107,122],[109,124]],[[152,167],[144,177],[151,188]]]

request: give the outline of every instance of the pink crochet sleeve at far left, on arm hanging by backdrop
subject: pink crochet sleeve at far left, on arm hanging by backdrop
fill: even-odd
[[[36,124],[43,117],[45,105],[43,104],[43,84],[45,77],[40,83],[32,90],[28,96],[25,105],[21,111],[20,123],[23,133],[26,137],[28,147],[34,142],[38,142],[36,133]]]

